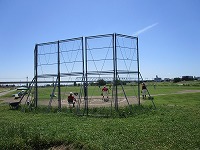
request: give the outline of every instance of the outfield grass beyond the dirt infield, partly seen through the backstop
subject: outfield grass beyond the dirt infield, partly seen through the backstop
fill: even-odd
[[[200,90],[200,81],[183,81],[179,83],[172,83],[172,82],[158,82],[156,83],[156,88],[154,89],[153,82],[147,82],[146,85],[148,87],[148,90],[150,94],[156,95],[156,94],[171,94],[176,93],[184,90]],[[136,83],[129,84],[126,86],[123,86],[124,90],[126,92],[127,96],[136,96],[138,93],[138,88],[136,86]],[[66,99],[70,92],[73,93],[80,93],[82,91],[81,86],[65,86],[61,87],[61,99]],[[100,96],[101,95],[101,88],[98,86],[88,86],[88,97],[91,98],[93,96]],[[39,87],[38,88],[38,99],[43,100],[49,100],[50,94],[53,91],[53,87]],[[9,93],[7,95],[4,95],[3,97],[10,97],[12,94],[17,93],[18,91],[14,91],[12,93]],[[83,91],[82,91],[83,93]],[[110,95],[111,95],[110,90]],[[55,94],[58,95],[58,89],[56,88]],[[118,96],[124,96],[122,87],[118,86]]]

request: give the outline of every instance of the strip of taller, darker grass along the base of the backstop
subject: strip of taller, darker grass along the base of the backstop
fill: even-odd
[[[127,118],[134,117],[142,114],[148,114],[154,112],[155,109],[151,105],[129,105],[125,107],[108,108],[108,107],[94,107],[88,108],[62,108],[58,109],[57,107],[48,108],[46,106],[40,106],[37,108],[34,107],[21,107],[21,111],[25,113],[59,113],[66,116],[87,116],[87,117],[97,117],[97,118]]]

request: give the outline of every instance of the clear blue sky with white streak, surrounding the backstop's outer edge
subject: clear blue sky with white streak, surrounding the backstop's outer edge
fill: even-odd
[[[137,35],[144,78],[200,76],[199,0],[0,0],[0,81],[33,77],[36,43]]]

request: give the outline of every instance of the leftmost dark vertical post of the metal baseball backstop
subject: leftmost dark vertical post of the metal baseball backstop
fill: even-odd
[[[34,50],[34,77],[35,77],[35,93],[34,93],[34,105],[37,108],[37,101],[38,101],[38,45],[35,45]]]

